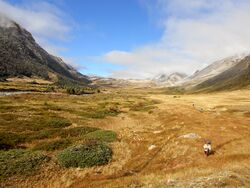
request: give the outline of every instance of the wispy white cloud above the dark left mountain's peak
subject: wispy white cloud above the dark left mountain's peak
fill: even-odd
[[[60,9],[45,1],[14,5],[0,0],[0,13],[30,31],[38,43],[51,53],[58,53],[61,47],[53,45],[50,40],[68,40],[73,24]]]

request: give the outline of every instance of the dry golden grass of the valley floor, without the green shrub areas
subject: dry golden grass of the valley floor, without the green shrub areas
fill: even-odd
[[[1,101],[12,105],[51,104],[73,124],[118,134],[111,144],[113,160],[99,167],[62,169],[55,160],[38,175],[0,185],[19,187],[247,187],[250,185],[250,90],[173,95],[147,89],[113,89],[92,96],[26,94]],[[39,99],[39,100],[38,100]],[[130,110],[140,102],[157,101],[150,110]],[[103,104],[105,103],[105,104]],[[194,104],[194,105],[193,105]],[[117,105],[117,116],[96,119],[79,111]],[[138,105],[137,105],[138,106]],[[136,107],[137,107],[136,106]],[[54,108],[53,108],[54,107]],[[61,109],[61,110],[59,110]],[[23,112],[16,112],[22,114]],[[195,133],[200,138],[182,138]],[[213,155],[205,157],[204,139]],[[154,147],[151,147],[154,145]],[[151,148],[151,149],[150,149]]]

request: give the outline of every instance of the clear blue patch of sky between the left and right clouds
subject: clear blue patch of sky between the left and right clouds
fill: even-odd
[[[55,6],[72,22],[65,40],[49,41],[50,45],[62,48],[54,53],[73,61],[83,73],[109,75],[123,66],[104,60],[100,63],[94,57],[114,49],[129,51],[155,42],[163,32],[163,28],[150,21],[146,7],[138,0],[9,1],[21,8],[34,2]]]

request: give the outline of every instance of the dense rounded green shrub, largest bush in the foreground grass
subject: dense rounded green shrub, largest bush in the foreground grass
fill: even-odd
[[[112,150],[101,142],[88,142],[71,146],[57,155],[63,167],[91,167],[107,164],[112,158]]]

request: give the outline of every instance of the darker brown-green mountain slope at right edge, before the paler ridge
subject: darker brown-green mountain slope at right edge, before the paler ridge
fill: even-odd
[[[228,70],[198,84],[195,89],[219,91],[240,89],[248,85],[250,85],[250,55]]]

